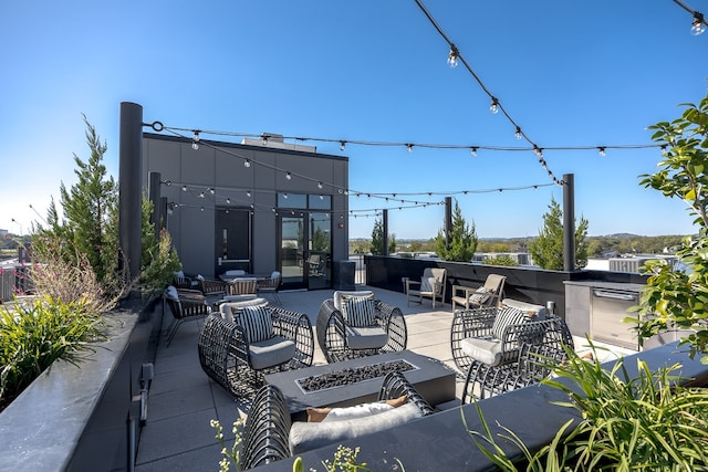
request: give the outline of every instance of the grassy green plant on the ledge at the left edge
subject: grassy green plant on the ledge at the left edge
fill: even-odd
[[[103,338],[101,318],[84,302],[49,296],[0,305],[0,408],[6,407],[54,360],[76,364],[88,342]]]

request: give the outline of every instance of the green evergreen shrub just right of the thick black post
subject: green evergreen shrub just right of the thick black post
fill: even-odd
[[[140,291],[144,298],[149,298],[152,295],[162,293],[170,283],[175,272],[181,270],[181,262],[173,248],[173,239],[168,231],[162,230],[158,239],[155,239],[155,224],[150,222],[153,204],[145,195],[143,195],[142,210]]]

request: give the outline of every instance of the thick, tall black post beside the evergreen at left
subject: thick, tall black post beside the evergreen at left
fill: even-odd
[[[121,137],[118,150],[118,242],[121,263],[129,280],[140,276],[143,107],[121,103]],[[139,296],[137,291],[132,297]]]

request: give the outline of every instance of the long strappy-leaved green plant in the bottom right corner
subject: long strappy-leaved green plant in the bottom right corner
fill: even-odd
[[[565,423],[535,453],[509,429],[500,434],[520,448],[527,471],[708,470],[708,390],[677,386],[680,365],[650,371],[637,359],[638,374],[631,377],[624,359],[607,370],[569,354],[555,369],[568,381],[543,382],[564,391],[569,401],[559,405],[576,409],[582,420]],[[470,431],[478,447],[501,470],[519,470],[482,422],[483,432]]]

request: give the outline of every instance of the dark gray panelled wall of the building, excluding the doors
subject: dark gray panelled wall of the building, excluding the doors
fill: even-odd
[[[143,138],[143,187],[147,190],[149,172],[159,172],[163,182],[174,182],[160,185],[160,196],[177,204],[167,217],[167,228],[186,272],[216,275],[217,207],[252,211],[251,270],[256,273],[274,270],[279,241],[272,208],[278,207],[279,192],[331,196],[332,259],[347,259],[348,197],[343,189],[348,188],[348,158],[204,139],[198,149],[192,149],[191,144],[191,139],[155,134],[145,134]],[[248,168],[243,166],[246,159],[252,162]],[[291,172],[291,179],[287,178],[287,171]],[[323,182],[322,189],[317,188],[317,181]],[[189,190],[183,191],[183,185]],[[205,191],[204,198],[198,189]],[[247,195],[249,190],[251,197]]]

